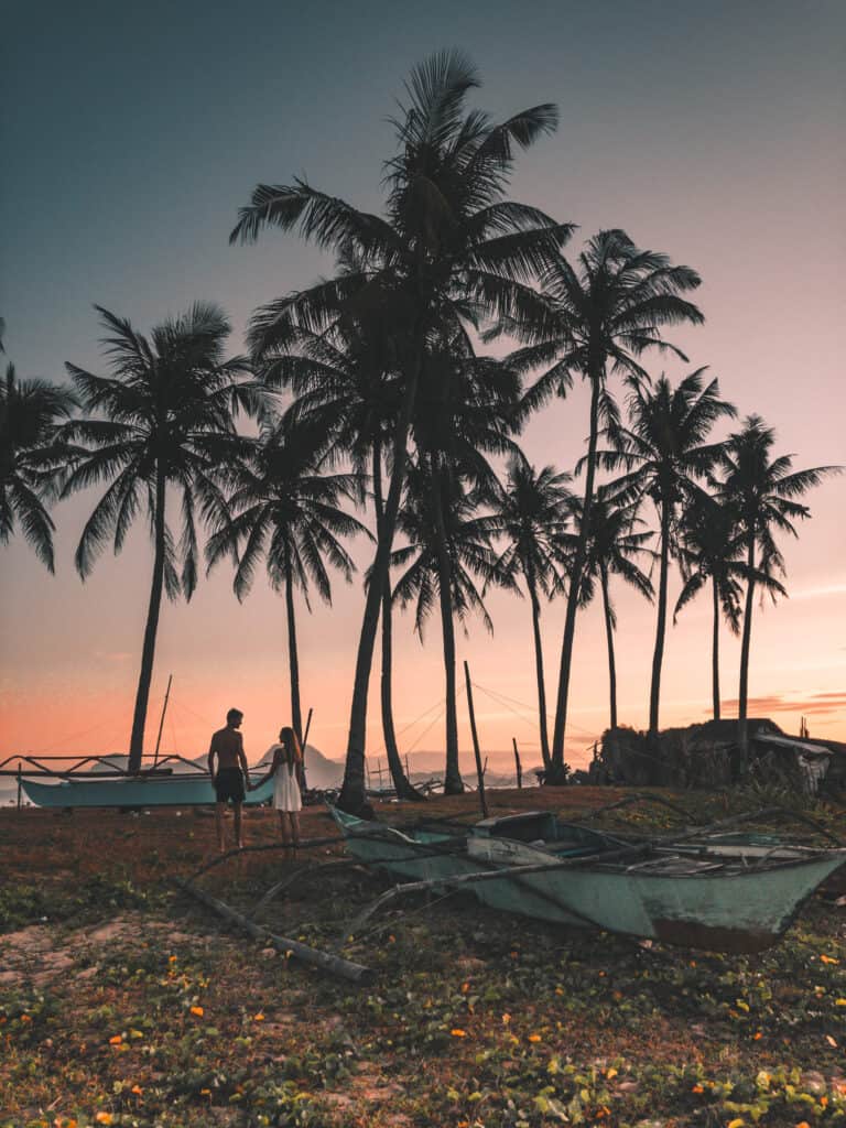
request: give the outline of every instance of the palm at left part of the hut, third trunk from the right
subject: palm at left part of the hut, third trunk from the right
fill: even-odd
[[[661,696],[661,667],[667,631],[667,583],[670,555],[677,546],[678,517],[697,478],[713,467],[720,443],[706,443],[717,420],[737,415],[735,408],[720,398],[717,380],[704,385],[704,368],[697,369],[673,388],[662,376],[654,385],[641,381],[628,397],[628,426],[615,423],[608,429],[614,451],[602,452],[603,464],[620,466],[627,474],[616,488],[623,497],[649,496],[659,514],[660,573],[658,624],[652,655],[650,689],[650,733],[658,732]]]

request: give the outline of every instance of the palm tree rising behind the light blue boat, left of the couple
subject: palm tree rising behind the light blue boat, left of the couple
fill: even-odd
[[[129,756],[129,770],[138,772],[162,590],[171,599],[180,591],[191,599],[197,580],[197,503],[204,520],[226,512],[221,483],[244,449],[235,417],[241,409],[256,412],[261,395],[244,380],[247,361],[224,359],[230,326],[218,306],[197,302],[156,326],[149,337],[129,320],[95,308],[107,333],[102,343],[113,374],[94,376],[65,364],[83,407],[98,417],[67,425],[69,439],[86,450],[62,493],[109,483],[77,548],[83,580],[109,538],[115,553],[121,552],[140,510],[147,510],[150,521],[152,583]],[[167,522],[168,487],[180,495],[178,545]]]

